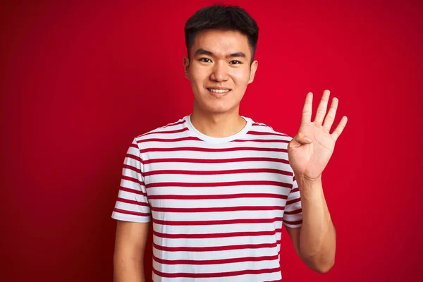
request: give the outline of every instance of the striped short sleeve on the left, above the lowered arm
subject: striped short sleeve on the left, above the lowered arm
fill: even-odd
[[[134,138],[123,161],[121,186],[111,217],[121,221],[149,222],[150,215],[141,152]]]

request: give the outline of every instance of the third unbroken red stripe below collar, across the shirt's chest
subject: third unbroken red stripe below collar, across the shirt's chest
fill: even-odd
[[[181,171],[181,170],[161,170],[161,171],[148,171],[144,173],[144,176],[154,176],[157,174],[186,174],[186,175],[200,175],[209,176],[216,174],[235,174],[235,173],[277,173],[290,176],[290,171],[282,171],[274,168],[244,168],[244,169],[233,169],[227,171]]]

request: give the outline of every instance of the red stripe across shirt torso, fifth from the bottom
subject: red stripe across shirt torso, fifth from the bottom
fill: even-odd
[[[282,221],[282,217],[274,217],[273,219],[225,219],[214,221],[167,221],[153,219],[153,223],[166,226],[199,226],[199,225],[225,225],[225,224],[239,224],[239,223],[274,223]]]

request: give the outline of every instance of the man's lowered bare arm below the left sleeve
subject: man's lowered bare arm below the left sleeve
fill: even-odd
[[[114,282],[145,282],[144,252],[148,231],[148,222],[117,221]]]

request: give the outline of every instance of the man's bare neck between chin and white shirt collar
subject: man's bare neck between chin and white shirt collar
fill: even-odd
[[[212,114],[194,108],[190,120],[200,133],[209,137],[235,135],[247,124],[245,119],[238,114],[238,109],[233,112]]]

